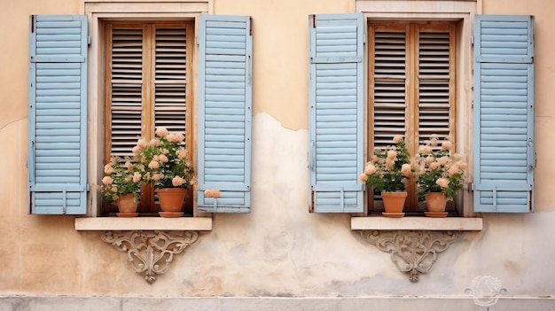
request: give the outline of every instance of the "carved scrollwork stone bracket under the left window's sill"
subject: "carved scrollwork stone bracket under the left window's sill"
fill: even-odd
[[[129,264],[148,283],[165,273],[174,255],[192,245],[196,231],[103,231],[100,238],[117,250],[127,253]]]

